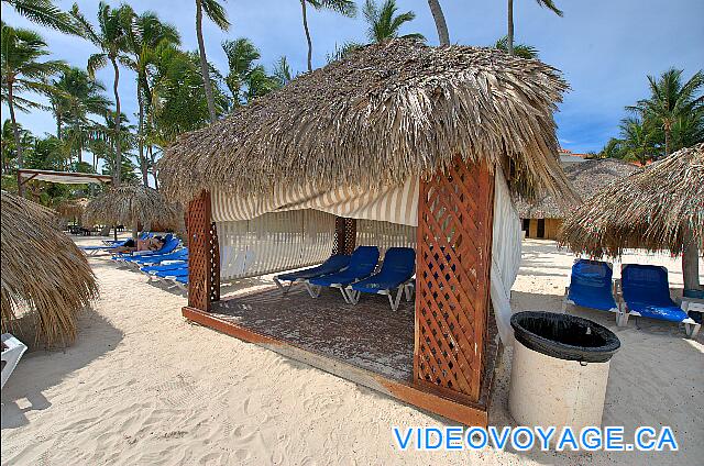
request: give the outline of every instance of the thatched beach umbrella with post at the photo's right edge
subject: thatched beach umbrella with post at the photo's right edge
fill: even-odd
[[[627,247],[682,254],[684,288],[697,289],[704,246],[704,144],[623,178],[564,222],[560,243],[575,253],[617,257]]]

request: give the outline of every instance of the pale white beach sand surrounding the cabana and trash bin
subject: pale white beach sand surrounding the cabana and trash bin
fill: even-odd
[[[96,240],[78,240],[95,244]],[[667,265],[681,286],[679,262]],[[514,310],[559,310],[572,257],[526,241]],[[183,296],[144,276],[91,259],[101,287],[66,351],[25,355],[2,390],[3,465],[226,464],[704,464],[704,340],[667,323],[576,311],[614,330],[605,425],[671,425],[678,453],[398,452],[392,425],[443,425],[441,418],[189,324]],[[704,332],[703,332],[704,333]],[[497,369],[494,425],[507,412],[510,352]]]

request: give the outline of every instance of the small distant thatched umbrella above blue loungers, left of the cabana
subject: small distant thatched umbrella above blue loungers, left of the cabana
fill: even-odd
[[[178,229],[183,223],[183,211],[162,193],[142,185],[112,187],[92,199],[85,211],[89,223],[130,225],[136,238],[138,225],[148,230],[152,224]]]

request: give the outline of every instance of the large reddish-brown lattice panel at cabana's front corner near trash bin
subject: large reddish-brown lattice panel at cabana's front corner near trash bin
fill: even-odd
[[[471,401],[481,387],[493,198],[485,165],[457,163],[421,182],[418,201],[414,377]]]

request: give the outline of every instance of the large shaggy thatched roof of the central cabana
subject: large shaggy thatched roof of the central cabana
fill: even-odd
[[[503,164],[526,197],[574,200],[556,155],[553,111],[566,89],[557,69],[493,48],[367,45],[180,136],[160,160],[161,187],[183,202],[202,189],[374,189],[460,155]]]

